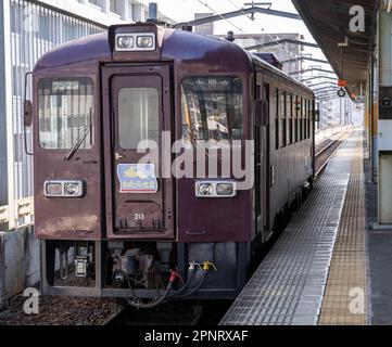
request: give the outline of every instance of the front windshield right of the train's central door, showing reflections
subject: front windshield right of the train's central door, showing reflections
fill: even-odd
[[[242,81],[237,77],[191,77],[181,85],[182,138],[242,139]]]

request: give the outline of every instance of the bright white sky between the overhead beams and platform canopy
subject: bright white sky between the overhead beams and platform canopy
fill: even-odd
[[[213,9],[217,13],[226,13],[239,10],[244,7],[245,1],[242,0],[154,0],[159,4],[159,10],[165,15],[172,17],[177,22],[191,21],[194,18],[194,13],[208,13]],[[246,1],[248,3],[252,0]],[[255,1],[257,2],[257,1]],[[260,1],[263,2],[263,1]],[[298,13],[291,0],[269,0],[264,2],[271,2],[273,10],[280,10],[286,12]],[[211,9],[208,9],[207,4]],[[230,23],[229,23],[230,22]],[[262,34],[262,33],[293,33],[302,34],[305,41],[315,42],[312,35],[307,30],[302,21],[290,20],[284,17],[271,16],[267,14],[255,14],[255,21],[251,21],[246,16],[230,18],[227,21],[219,21],[215,23],[215,34],[225,35],[232,30],[235,34]],[[305,48],[304,53],[311,53],[313,57],[325,59],[319,49]],[[315,65],[315,63],[304,63],[307,65]],[[329,69],[330,66],[320,65],[323,68]]]

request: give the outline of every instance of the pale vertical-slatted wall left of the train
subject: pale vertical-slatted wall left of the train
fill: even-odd
[[[33,70],[38,59],[51,48],[105,29],[30,1],[10,1],[12,62],[12,105],[8,106],[12,110],[7,114],[12,114],[13,120],[14,200],[18,201],[33,195],[33,160],[25,153],[23,136],[25,74]],[[31,144],[30,133],[27,133],[27,142]]]

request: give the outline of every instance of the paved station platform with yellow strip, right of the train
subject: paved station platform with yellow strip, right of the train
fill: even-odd
[[[377,213],[367,157],[363,131],[355,129],[220,325],[392,322],[392,233],[374,240],[367,228]]]

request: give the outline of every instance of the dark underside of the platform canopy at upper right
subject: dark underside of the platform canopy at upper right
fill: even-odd
[[[308,30],[327,56],[333,70],[347,80],[350,93],[359,94],[361,85],[366,87],[370,57],[376,44],[377,11],[379,0],[292,0]],[[365,31],[350,29],[352,7],[365,10]],[[349,38],[343,49],[344,76],[342,76],[341,48],[338,43]]]

